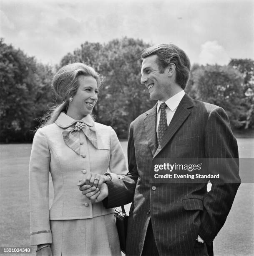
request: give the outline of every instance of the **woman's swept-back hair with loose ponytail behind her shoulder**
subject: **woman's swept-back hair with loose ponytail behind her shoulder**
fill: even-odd
[[[67,112],[69,98],[73,97],[79,87],[78,76],[93,77],[97,81],[98,89],[101,86],[100,75],[90,66],[83,63],[72,63],[61,67],[53,77],[52,87],[55,95],[63,100],[63,103],[49,110],[49,113],[43,116],[42,125],[55,123],[61,112]]]

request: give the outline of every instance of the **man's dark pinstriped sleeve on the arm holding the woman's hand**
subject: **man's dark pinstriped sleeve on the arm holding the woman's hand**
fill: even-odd
[[[126,205],[133,201],[133,196],[138,179],[136,156],[133,140],[133,123],[130,125],[128,139],[128,174],[124,179],[116,179],[108,184],[108,197],[103,200],[106,208]]]

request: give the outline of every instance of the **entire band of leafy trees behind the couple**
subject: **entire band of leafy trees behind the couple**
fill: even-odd
[[[85,42],[63,56],[56,69],[83,62],[101,74],[103,86],[94,108],[96,120],[127,138],[128,125],[154,105],[140,83],[142,40],[114,39],[107,44]],[[53,68],[38,63],[0,39],[0,141],[31,141],[38,118],[56,102],[50,84]],[[221,106],[232,128],[254,128],[254,61],[231,59],[229,65],[194,64],[186,92]]]

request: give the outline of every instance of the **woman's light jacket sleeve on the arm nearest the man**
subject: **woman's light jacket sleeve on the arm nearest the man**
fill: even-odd
[[[110,159],[109,170],[112,179],[122,179],[127,174],[127,165],[123,154],[123,148],[116,136],[116,132],[111,128],[111,147],[110,147]]]

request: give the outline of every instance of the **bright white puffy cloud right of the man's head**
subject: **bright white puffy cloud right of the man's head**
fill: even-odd
[[[201,45],[201,53],[199,54],[199,64],[219,64],[226,65],[229,63],[230,57],[223,46],[217,41],[207,41]]]

